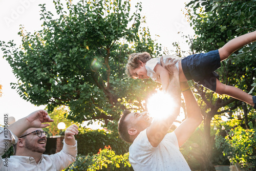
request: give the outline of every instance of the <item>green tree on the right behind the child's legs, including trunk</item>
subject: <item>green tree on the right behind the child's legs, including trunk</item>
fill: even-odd
[[[254,31],[256,20],[255,1],[191,1],[187,4],[190,25],[196,33],[191,42],[192,52],[208,52],[222,47],[228,40]],[[221,63],[218,71],[221,82],[236,86],[245,92],[252,92],[255,86],[256,44],[253,42],[232,54]],[[248,126],[251,106],[233,98],[217,95],[195,85],[198,103],[204,116],[203,152],[206,154],[205,169],[215,170],[212,161],[214,141],[210,135],[210,123],[228,110],[242,111],[243,122]],[[241,123],[242,124],[242,123]]]

